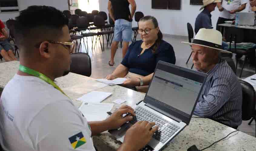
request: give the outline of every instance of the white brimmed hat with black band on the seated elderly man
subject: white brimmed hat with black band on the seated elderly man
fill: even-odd
[[[185,44],[195,44],[203,47],[213,48],[219,50],[223,53],[231,53],[230,51],[222,50],[222,34],[215,29],[205,29],[201,28],[195,35],[192,43],[181,42]]]

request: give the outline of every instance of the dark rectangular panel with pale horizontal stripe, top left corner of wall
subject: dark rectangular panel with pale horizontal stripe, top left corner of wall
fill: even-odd
[[[0,0],[1,13],[18,12],[18,0]]]

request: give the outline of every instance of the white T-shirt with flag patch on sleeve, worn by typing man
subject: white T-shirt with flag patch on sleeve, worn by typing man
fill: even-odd
[[[95,151],[87,120],[72,101],[34,76],[5,86],[0,104],[1,145],[9,151]]]

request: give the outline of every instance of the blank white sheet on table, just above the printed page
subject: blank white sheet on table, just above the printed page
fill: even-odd
[[[91,91],[77,100],[83,102],[100,103],[108,98],[111,94],[112,93],[110,92]]]

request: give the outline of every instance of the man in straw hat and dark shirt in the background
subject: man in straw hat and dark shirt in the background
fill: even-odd
[[[212,29],[211,12],[215,10],[215,7],[221,0],[203,0],[204,5],[200,10],[204,9],[196,18],[195,21],[195,33],[201,28]]]

